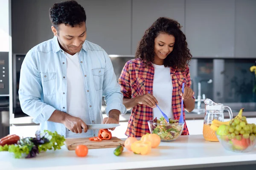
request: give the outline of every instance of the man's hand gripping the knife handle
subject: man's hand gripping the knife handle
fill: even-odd
[[[87,125],[79,117],[74,117],[67,114],[64,118],[63,124],[65,127],[67,127],[67,129],[74,133],[82,133],[82,127],[84,132],[87,132]]]

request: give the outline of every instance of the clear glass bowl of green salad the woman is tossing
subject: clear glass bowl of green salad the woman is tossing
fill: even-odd
[[[176,140],[182,133],[184,123],[178,123],[179,120],[170,120],[169,122],[177,121],[177,123],[158,123],[155,120],[148,121],[150,133],[157,134],[162,142],[170,142]]]

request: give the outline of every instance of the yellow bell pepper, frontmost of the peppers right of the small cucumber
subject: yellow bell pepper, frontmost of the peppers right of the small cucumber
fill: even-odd
[[[131,144],[131,150],[136,154],[146,155],[151,152],[151,142],[136,141]]]

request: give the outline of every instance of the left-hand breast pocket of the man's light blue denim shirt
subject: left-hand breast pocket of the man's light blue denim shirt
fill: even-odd
[[[56,94],[56,73],[41,73],[44,95]]]

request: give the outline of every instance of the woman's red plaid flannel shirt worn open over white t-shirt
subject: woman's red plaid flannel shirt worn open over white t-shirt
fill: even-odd
[[[178,71],[177,69],[170,68],[170,76],[172,77],[173,86],[172,111],[174,119],[180,119],[181,96],[178,94],[178,92],[182,88],[183,82],[185,83],[185,86],[190,87],[191,85],[189,67],[187,67],[185,71]],[[146,67],[142,60],[139,58],[131,59],[130,61],[126,62],[119,77],[119,85],[121,86],[121,91],[124,95],[124,98],[131,99],[136,96],[145,95],[148,93],[148,91],[153,94],[153,79],[153,65]],[[185,121],[184,107],[183,118],[185,125],[182,135],[189,135],[189,130]],[[136,105],[134,108],[132,108],[125,135],[128,137],[141,137],[145,133],[150,133],[148,120],[152,119],[153,108],[150,108],[146,105]]]

